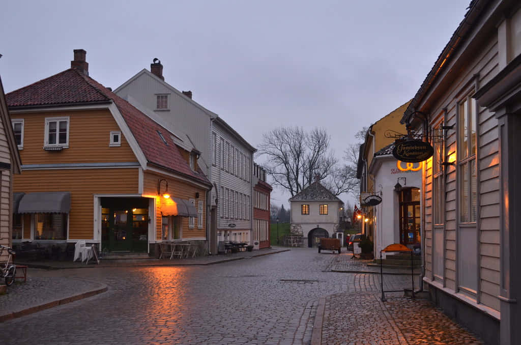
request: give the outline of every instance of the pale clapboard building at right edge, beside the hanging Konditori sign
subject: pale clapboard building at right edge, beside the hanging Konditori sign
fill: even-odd
[[[521,343],[521,3],[474,0],[402,123],[423,169],[424,286],[487,343]]]

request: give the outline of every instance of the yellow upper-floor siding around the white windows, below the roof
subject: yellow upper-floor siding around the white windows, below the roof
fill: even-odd
[[[69,117],[69,148],[62,151],[45,151],[45,118]],[[110,131],[120,131],[108,109],[71,110],[12,114],[23,119],[22,163],[100,163],[137,162],[127,140],[121,133],[121,146],[109,147]]]

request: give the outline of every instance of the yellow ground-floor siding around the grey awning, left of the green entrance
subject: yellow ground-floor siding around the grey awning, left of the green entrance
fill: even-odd
[[[93,194],[137,194],[138,174],[138,168],[25,170],[15,176],[14,191],[71,192],[69,239],[90,240],[94,236]]]

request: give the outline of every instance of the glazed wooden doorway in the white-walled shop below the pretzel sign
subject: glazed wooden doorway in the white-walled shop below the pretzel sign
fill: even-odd
[[[403,189],[400,192],[400,243],[412,248],[420,243],[420,190]]]

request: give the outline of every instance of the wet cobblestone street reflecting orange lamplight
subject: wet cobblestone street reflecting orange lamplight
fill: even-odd
[[[331,272],[348,255],[299,248],[209,266],[30,269],[34,279],[66,276],[78,289],[95,281],[108,290],[6,321],[0,331],[13,344],[309,344],[325,299],[324,344],[479,343],[428,302],[402,293],[380,302],[379,275]],[[401,289],[411,277],[384,282]],[[39,287],[30,294],[38,299]]]

